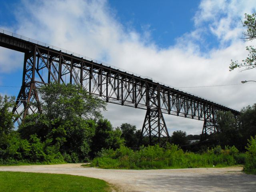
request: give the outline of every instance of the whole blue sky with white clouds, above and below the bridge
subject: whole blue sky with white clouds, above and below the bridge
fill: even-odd
[[[248,54],[242,27],[255,0],[0,0],[0,28],[76,52],[240,110],[256,71],[229,71]],[[18,95],[24,55],[0,47],[0,94]],[[215,86],[226,85],[226,86]],[[9,86],[9,87],[6,87]],[[14,86],[14,87],[10,87]],[[108,104],[104,117],[142,128],[145,110]],[[169,133],[202,121],[164,115]]]

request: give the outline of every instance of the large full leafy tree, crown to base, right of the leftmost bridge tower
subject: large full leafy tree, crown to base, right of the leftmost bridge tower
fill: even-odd
[[[50,151],[61,152],[68,162],[88,158],[95,120],[102,117],[106,103],[72,84],[53,83],[38,92],[42,113],[26,116],[18,129],[22,138],[29,140],[36,134]]]

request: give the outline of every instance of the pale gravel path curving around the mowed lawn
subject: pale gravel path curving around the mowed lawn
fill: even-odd
[[[255,192],[256,175],[242,167],[171,170],[105,170],[82,164],[0,166],[0,171],[58,173],[103,179],[122,192]]]

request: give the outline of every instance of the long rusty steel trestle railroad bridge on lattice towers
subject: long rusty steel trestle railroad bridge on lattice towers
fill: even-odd
[[[142,136],[150,144],[157,139],[163,146],[170,140],[164,114],[204,121],[202,140],[216,129],[216,112],[239,112],[215,102],[92,60],[91,58],[60,49],[30,38],[0,29],[0,46],[24,53],[22,86],[16,100],[18,124],[28,113],[40,111],[30,102],[39,102],[37,89],[50,82],[81,85],[91,94],[110,103],[146,110]]]

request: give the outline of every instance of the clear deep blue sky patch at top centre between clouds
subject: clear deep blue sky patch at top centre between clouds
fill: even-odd
[[[199,2],[199,0],[110,0],[109,4],[124,27],[135,28],[141,34],[150,31],[150,40],[160,48],[166,48],[175,44],[176,37],[194,28],[192,18]]]

